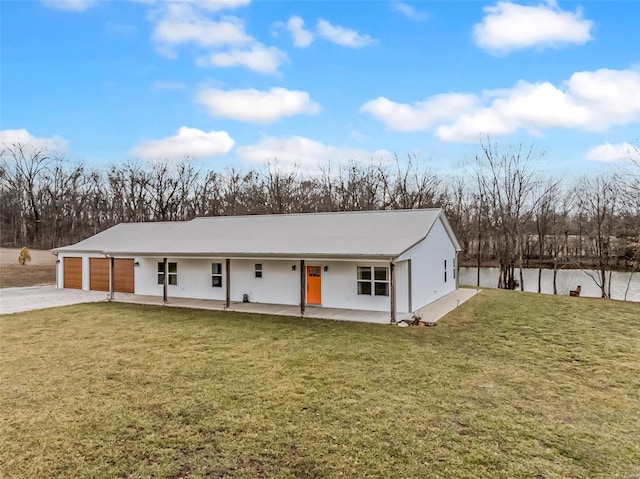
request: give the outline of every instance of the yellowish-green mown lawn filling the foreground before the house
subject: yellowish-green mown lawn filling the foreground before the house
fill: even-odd
[[[0,317],[3,478],[640,478],[640,304],[435,328],[87,304]]]

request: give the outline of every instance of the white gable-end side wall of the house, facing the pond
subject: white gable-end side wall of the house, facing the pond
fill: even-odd
[[[414,311],[455,291],[453,275],[455,246],[438,219],[429,235],[399,260],[411,259],[411,307]],[[447,260],[447,281],[444,280],[444,261]]]

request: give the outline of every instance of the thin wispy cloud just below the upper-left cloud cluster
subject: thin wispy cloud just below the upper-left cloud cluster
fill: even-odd
[[[243,66],[258,73],[276,73],[287,54],[276,47],[266,47],[262,43],[254,43],[245,49],[232,49],[226,52],[211,53],[196,60],[198,66],[215,66],[229,68]]]

